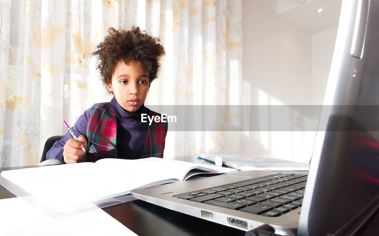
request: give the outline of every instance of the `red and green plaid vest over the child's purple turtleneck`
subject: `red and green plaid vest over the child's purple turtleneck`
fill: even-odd
[[[160,116],[159,113],[147,109],[147,116]],[[164,141],[168,124],[166,122],[152,122],[147,127],[147,136],[141,158],[163,158]],[[87,138],[91,147],[87,153],[87,161],[97,161],[102,158],[117,158],[117,121],[116,113],[110,103],[96,103],[93,106],[87,126]]]

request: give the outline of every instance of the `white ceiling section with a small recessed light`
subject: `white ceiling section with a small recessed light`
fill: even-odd
[[[273,2],[276,2],[277,16],[309,33],[314,34],[338,26],[342,0],[273,0]],[[324,11],[316,13],[319,8],[323,8]]]

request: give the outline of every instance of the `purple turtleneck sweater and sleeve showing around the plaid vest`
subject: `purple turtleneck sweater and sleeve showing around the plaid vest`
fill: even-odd
[[[136,111],[136,114],[127,113],[113,97],[111,107],[116,113],[117,119],[117,155],[123,159],[138,159],[142,153],[147,135],[148,122],[141,122],[141,113],[147,113],[144,105]],[[87,126],[89,117],[91,116],[92,107],[87,109],[78,118],[72,128],[76,136],[83,135],[87,138]],[[49,152],[46,159],[58,159],[63,161],[63,146],[68,139],[72,139],[71,134],[67,133],[60,141],[56,141]]]

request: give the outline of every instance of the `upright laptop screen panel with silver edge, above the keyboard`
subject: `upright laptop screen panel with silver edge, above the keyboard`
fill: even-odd
[[[378,206],[379,2],[344,0],[299,234],[346,234]],[[313,184],[313,186],[310,186]]]

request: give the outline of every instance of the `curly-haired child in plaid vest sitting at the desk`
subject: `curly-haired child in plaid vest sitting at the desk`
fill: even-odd
[[[97,69],[114,97],[111,102],[97,103],[87,109],[72,127],[78,142],[67,132],[47,152],[47,160],[81,162],[85,155],[81,148],[87,148],[88,141],[86,161],[163,158],[167,123],[149,125],[141,122],[141,114],[160,116],[146,108],[144,102],[151,82],[157,78],[164,49],[157,43],[158,38],[141,32],[139,27],[130,31],[109,28],[108,32],[109,36],[97,45],[93,55],[98,56]]]

